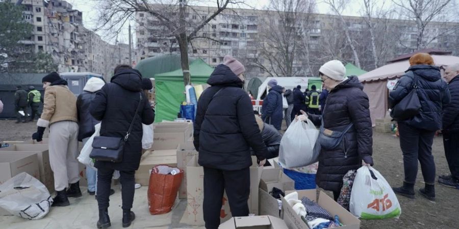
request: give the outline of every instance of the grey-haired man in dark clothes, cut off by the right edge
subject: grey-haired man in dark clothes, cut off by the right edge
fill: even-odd
[[[459,189],[459,64],[445,69],[451,103],[443,107],[443,145],[450,175],[440,176],[442,185]]]

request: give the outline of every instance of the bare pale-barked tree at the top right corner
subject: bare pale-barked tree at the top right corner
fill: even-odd
[[[456,28],[446,28],[436,32],[426,32],[426,28],[432,21],[449,22],[452,18],[454,1],[451,0],[392,0],[400,7],[405,16],[416,21],[417,39],[416,49],[425,48],[432,41],[448,36],[457,30]]]

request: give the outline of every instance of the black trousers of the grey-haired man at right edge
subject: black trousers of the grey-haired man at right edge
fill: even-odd
[[[459,180],[459,133],[443,134],[443,145],[451,176]]]

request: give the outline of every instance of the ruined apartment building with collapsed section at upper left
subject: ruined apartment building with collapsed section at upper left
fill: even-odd
[[[93,72],[111,75],[129,62],[129,45],[111,45],[83,26],[83,13],[60,0],[17,0],[22,17],[33,25],[33,35],[22,43],[27,50],[50,53],[59,72]],[[116,55],[120,54],[120,56]],[[115,56],[117,56],[115,58]]]

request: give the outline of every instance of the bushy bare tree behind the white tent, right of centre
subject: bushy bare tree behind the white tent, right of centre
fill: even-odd
[[[311,0],[270,0],[260,23],[254,64],[271,76],[298,75],[296,66],[304,56],[303,45],[307,47],[301,36],[308,35],[306,28],[314,6]]]

